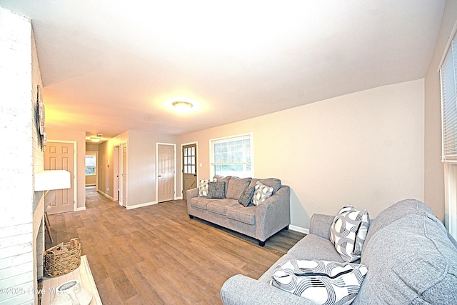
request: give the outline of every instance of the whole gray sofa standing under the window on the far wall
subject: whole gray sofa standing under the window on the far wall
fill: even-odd
[[[213,224],[251,236],[260,246],[266,239],[291,224],[290,197],[288,186],[276,178],[256,179],[235,176],[215,176],[217,181],[226,183],[224,199],[210,199],[199,196],[199,188],[186,191],[187,211],[192,219],[198,217]],[[257,181],[273,188],[273,194],[258,206],[243,206],[238,202],[246,186],[255,186]]]

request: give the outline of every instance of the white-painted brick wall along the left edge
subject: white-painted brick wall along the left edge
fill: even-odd
[[[43,193],[34,192],[33,181],[34,172],[43,169],[43,154],[35,131],[36,84],[41,84],[41,76],[31,21],[0,6],[2,305],[37,303],[33,291],[37,279],[36,237],[42,222]]]

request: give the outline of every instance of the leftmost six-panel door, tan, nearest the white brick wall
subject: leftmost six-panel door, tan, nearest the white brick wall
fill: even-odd
[[[44,151],[44,169],[65,169],[70,172],[70,189],[56,191],[56,199],[51,202],[48,214],[74,211],[74,146],[73,143],[48,142]]]

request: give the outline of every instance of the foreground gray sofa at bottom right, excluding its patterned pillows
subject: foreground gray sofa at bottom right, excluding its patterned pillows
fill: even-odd
[[[241,274],[228,279],[223,303],[313,304],[269,281],[275,266],[289,259],[343,262],[328,239],[333,218],[314,214],[310,234],[260,279]],[[421,201],[399,201],[371,221],[360,263],[368,274],[352,304],[457,304],[457,243]]]

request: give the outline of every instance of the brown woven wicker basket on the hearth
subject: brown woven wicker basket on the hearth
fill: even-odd
[[[44,252],[44,276],[56,277],[69,274],[81,264],[81,243],[71,239]]]

